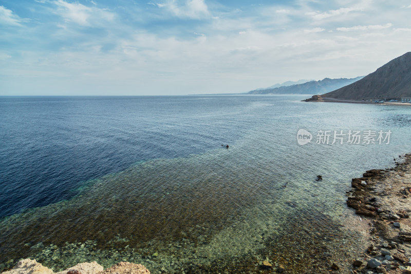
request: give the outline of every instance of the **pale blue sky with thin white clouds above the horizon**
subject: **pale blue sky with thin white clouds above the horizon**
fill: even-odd
[[[0,0],[0,95],[244,93],[411,51],[411,1]]]

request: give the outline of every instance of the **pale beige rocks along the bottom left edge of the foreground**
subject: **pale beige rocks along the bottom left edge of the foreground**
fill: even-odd
[[[128,262],[120,262],[104,270],[97,262],[91,262],[77,264],[64,271],[54,273],[53,270],[35,260],[25,259],[2,274],[150,274],[150,271],[141,264]]]

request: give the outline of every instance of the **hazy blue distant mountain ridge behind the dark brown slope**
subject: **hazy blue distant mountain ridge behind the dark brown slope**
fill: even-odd
[[[363,76],[351,79],[324,78],[320,81],[309,81],[303,84],[251,90],[251,92],[248,92],[247,94],[321,94],[349,85],[360,80],[361,78],[363,78]]]

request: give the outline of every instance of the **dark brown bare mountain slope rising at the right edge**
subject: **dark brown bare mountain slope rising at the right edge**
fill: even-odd
[[[355,83],[322,95],[322,97],[351,100],[379,96],[411,97],[411,52],[389,61]]]

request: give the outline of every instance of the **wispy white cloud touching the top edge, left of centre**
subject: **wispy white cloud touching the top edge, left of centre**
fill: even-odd
[[[101,22],[113,21],[114,13],[96,7],[87,7],[80,3],[68,3],[64,0],[53,2],[58,6],[57,13],[64,17],[66,22],[73,22],[81,26],[101,25]]]

